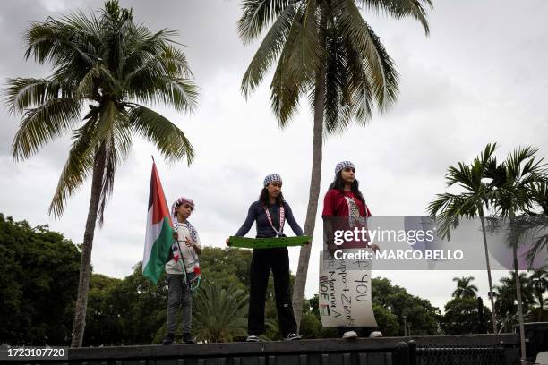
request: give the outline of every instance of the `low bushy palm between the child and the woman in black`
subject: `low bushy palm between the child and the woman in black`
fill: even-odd
[[[231,342],[247,332],[249,296],[235,287],[203,284],[197,295],[194,331],[199,341]]]

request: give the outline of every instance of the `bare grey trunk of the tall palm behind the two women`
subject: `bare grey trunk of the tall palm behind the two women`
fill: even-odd
[[[312,236],[318,211],[318,198],[320,196],[321,181],[321,148],[323,146],[323,110],[325,95],[325,71],[316,72],[316,84],[314,90],[314,129],[313,129],[313,168],[310,176],[310,191],[308,193],[308,208],[306,208],[306,220],[304,221],[304,234]],[[308,262],[312,243],[301,247],[299,264],[297,267],[295,286],[293,288],[293,310],[297,328],[301,326],[301,313],[303,311],[304,288],[308,274]]]

